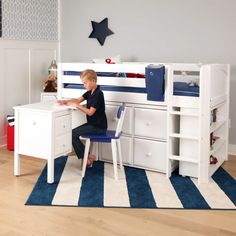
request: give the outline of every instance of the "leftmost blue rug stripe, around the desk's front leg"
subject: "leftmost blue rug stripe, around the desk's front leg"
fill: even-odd
[[[54,183],[47,183],[47,165],[44,167],[38,178],[37,184],[31,192],[25,205],[51,205],[61,175],[65,168],[67,157],[60,157],[55,160],[56,171],[54,173]]]

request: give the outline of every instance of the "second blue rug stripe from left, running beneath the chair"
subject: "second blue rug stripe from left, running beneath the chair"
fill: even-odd
[[[93,165],[83,178],[78,206],[103,207],[104,162],[95,161]]]

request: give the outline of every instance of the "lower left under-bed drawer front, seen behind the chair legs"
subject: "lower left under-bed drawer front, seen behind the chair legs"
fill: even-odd
[[[112,162],[112,151],[110,143],[103,143],[100,145],[101,147],[101,156],[100,158],[105,161]],[[132,151],[132,139],[130,137],[121,137],[121,153],[122,153],[122,161],[124,164],[131,164],[131,152]],[[119,158],[117,157],[117,161],[119,162]]]

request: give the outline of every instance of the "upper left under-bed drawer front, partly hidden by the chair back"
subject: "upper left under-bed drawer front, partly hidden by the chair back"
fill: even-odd
[[[116,105],[106,105],[106,115],[108,122],[108,129],[115,130],[117,127],[116,113],[119,106]],[[126,107],[126,113],[124,117],[124,123],[122,131],[126,134],[132,133],[132,108]]]

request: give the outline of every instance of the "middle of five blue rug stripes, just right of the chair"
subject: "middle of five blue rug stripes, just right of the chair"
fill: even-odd
[[[130,206],[134,208],[156,208],[145,170],[125,166],[125,176]]]

